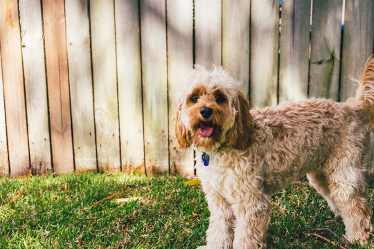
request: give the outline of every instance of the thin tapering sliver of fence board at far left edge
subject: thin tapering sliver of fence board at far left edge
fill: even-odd
[[[8,175],[9,175],[8,147],[6,143],[6,121],[5,121],[5,109],[4,109],[3,73],[1,72],[1,53],[0,53],[0,176],[8,176]]]

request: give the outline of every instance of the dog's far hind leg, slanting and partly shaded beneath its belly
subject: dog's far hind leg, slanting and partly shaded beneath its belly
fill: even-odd
[[[335,216],[340,216],[340,210],[335,205],[334,199],[332,199],[331,192],[328,188],[328,178],[326,174],[321,171],[310,172],[307,174],[310,185],[314,187],[321,196],[328,202],[330,209],[334,212]]]

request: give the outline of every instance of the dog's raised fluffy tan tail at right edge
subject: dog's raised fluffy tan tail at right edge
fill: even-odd
[[[357,114],[368,131],[374,130],[374,55],[366,62],[365,71],[359,80],[359,88],[355,100],[358,105]]]

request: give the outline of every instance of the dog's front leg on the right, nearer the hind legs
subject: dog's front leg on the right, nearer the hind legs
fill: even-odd
[[[246,194],[233,205],[236,218],[234,249],[266,248],[270,206],[271,197],[266,194]]]

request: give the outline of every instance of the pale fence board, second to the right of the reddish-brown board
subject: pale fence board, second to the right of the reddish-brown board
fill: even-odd
[[[90,1],[98,168],[121,170],[114,2]]]

